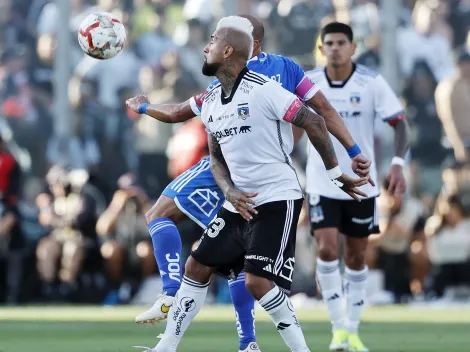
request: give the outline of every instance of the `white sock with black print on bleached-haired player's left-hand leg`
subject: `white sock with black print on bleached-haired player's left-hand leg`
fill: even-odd
[[[186,329],[204,304],[209,284],[210,281],[201,284],[183,276],[183,283],[176,293],[173,305],[168,312],[164,336],[155,347],[156,351],[176,351]]]

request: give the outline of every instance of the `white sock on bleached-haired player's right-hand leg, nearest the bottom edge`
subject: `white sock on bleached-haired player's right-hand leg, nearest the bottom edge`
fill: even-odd
[[[275,286],[259,303],[268,312],[287,347],[292,352],[310,352],[289,298]]]

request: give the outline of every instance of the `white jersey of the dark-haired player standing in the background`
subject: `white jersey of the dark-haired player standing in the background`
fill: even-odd
[[[368,198],[379,195],[377,168],[374,152],[374,124],[376,119],[389,123],[404,116],[403,107],[383,77],[362,65],[354,65],[352,75],[345,82],[331,82],[324,67],[306,73],[320,87],[331,105],[343,118],[350,134],[369,160],[372,160],[370,176],[376,186],[361,187]],[[351,159],[341,143],[331,136],[336,156],[343,173],[357,178],[351,169]],[[307,162],[307,192],[332,199],[348,199],[341,189],[328,177],[318,152],[309,145]]]

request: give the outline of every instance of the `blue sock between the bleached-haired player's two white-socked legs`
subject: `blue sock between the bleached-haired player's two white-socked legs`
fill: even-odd
[[[244,273],[240,273],[236,280],[230,280],[228,284],[235,307],[240,350],[244,350],[250,342],[256,342],[255,299],[245,287]]]

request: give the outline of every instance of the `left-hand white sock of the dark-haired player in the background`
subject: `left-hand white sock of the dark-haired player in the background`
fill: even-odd
[[[338,329],[345,329],[346,326],[343,318],[343,283],[339,271],[339,261],[325,262],[317,258],[316,272],[333,332]]]

